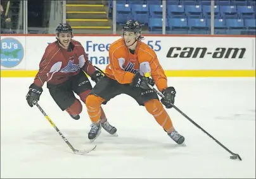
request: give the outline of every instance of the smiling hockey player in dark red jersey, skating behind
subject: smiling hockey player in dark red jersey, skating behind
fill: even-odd
[[[72,40],[72,37],[73,30],[70,25],[60,23],[57,26],[57,40],[46,47],[39,64],[39,72],[35,76],[34,83],[29,86],[26,99],[29,106],[33,107],[33,101],[39,101],[42,86],[47,82],[49,93],[58,107],[62,111],[68,112],[75,120],[78,120],[80,118],[79,114],[82,112],[82,105],[75,98],[74,92],[85,103],[92,89],[86,74],[95,83],[98,83],[103,75],[88,60],[82,45]],[[100,119],[102,127],[108,133],[115,134],[117,129],[108,123],[102,108]],[[90,136],[91,132],[88,134],[89,139]]]

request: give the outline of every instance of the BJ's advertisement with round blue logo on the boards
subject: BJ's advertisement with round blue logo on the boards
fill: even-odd
[[[26,69],[26,37],[1,37],[1,70]]]

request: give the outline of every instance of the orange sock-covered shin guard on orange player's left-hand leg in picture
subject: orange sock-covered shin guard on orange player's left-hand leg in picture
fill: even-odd
[[[95,95],[89,95],[86,98],[86,107],[91,122],[98,123],[101,117],[101,103],[105,101],[103,98]]]

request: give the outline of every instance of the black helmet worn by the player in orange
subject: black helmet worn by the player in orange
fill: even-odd
[[[135,35],[139,35],[138,39],[142,38],[141,31],[142,31],[141,23],[135,20],[127,21],[125,25],[122,27],[122,35],[124,35],[124,32],[134,32]]]

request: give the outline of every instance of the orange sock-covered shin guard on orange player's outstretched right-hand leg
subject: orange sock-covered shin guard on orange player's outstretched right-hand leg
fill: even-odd
[[[163,129],[165,129],[168,133],[174,130],[172,120],[170,120],[168,113],[165,111],[162,103],[159,100],[154,99],[146,101],[144,106],[146,107],[146,110],[151,113],[153,117],[155,117],[155,120],[157,120],[158,124],[161,125]]]

